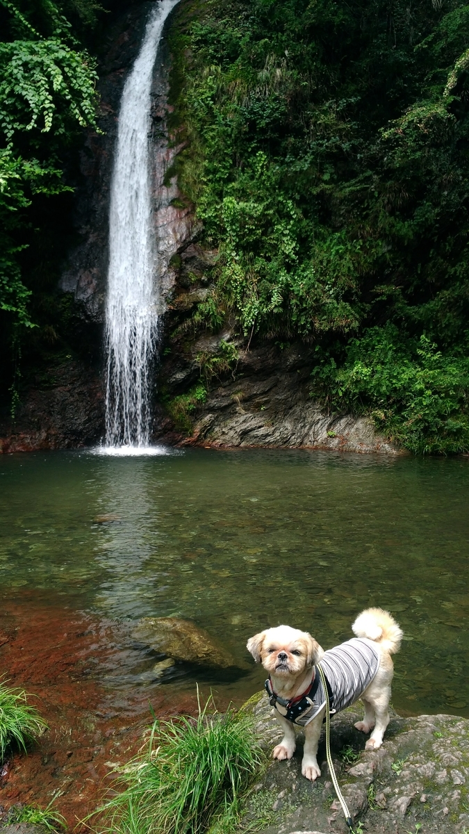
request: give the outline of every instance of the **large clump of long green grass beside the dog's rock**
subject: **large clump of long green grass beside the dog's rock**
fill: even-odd
[[[209,714],[155,721],[149,746],[116,781],[124,786],[98,809],[113,834],[227,831],[263,759],[250,716]]]

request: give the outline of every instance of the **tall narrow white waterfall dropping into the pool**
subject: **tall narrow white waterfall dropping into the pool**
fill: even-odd
[[[159,298],[150,162],[153,68],[164,22],[178,0],[155,3],[124,84],[109,208],[105,309],[107,447],[149,446],[150,384]]]

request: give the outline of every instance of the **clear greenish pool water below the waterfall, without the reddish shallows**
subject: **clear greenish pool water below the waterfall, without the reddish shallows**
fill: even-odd
[[[464,459],[37,453],[4,456],[0,490],[5,595],[36,589],[124,620],[179,615],[240,662],[260,628],[286,622],[327,648],[382,605],[406,632],[396,708],[469,715]],[[253,666],[212,682],[239,701],[262,678]],[[194,670],[179,669],[166,685],[189,684]]]

